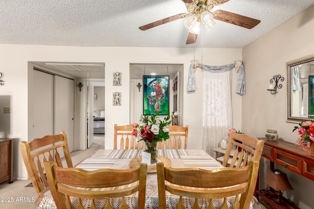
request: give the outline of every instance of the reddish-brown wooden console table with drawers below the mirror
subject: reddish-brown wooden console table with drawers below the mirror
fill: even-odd
[[[314,157],[303,151],[302,148],[296,149],[294,143],[284,140],[271,141],[267,138],[258,139],[265,141],[262,157],[270,161],[269,169],[274,169],[274,163],[276,163],[314,181]],[[283,203],[276,203],[271,199],[273,194],[268,189],[258,190],[256,192],[274,209],[298,209],[298,207],[286,198],[283,198]]]

